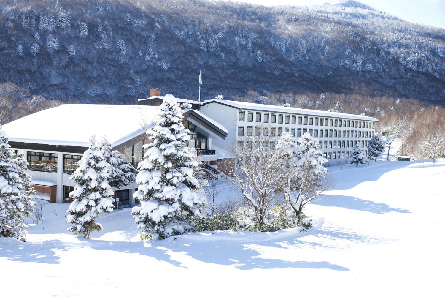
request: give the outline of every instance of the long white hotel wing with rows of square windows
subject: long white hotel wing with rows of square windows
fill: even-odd
[[[349,162],[350,152],[356,144],[367,153],[368,141],[379,122],[376,118],[354,114],[225,100],[205,101],[200,111],[229,131],[224,141],[214,140],[215,145],[227,151],[248,140],[249,136],[264,133],[263,129],[267,129],[271,136],[275,135],[275,141],[285,131],[291,133],[295,141],[307,131],[318,138],[320,149],[330,165]]]

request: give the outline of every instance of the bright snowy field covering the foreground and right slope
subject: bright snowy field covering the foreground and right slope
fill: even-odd
[[[1,296],[441,296],[445,161],[432,165],[330,167],[336,187],[307,206],[307,233],[144,243],[124,209],[83,240],[66,232],[69,204],[51,204],[28,243],[0,238]]]

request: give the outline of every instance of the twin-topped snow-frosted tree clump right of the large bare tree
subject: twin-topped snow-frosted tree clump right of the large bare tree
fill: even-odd
[[[283,133],[277,144],[277,151],[282,160],[282,188],[288,213],[299,220],[303,207],[325,191],[330,183],[325,179],[328,160],[319,150],[318,140],[308,132],[292,142],[288,133]]]

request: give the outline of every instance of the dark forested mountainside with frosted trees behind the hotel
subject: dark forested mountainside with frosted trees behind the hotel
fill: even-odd
[[[362,94],[445,103],[445,30],[355,1],[3,0],[0,82],[62,102]]]

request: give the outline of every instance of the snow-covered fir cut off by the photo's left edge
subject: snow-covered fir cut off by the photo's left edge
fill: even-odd
[[[24,216],[31,216],[35,205],[28,162],[20,151],[14,159],[9,139],[0,130],[0,237],[25,241]]]

